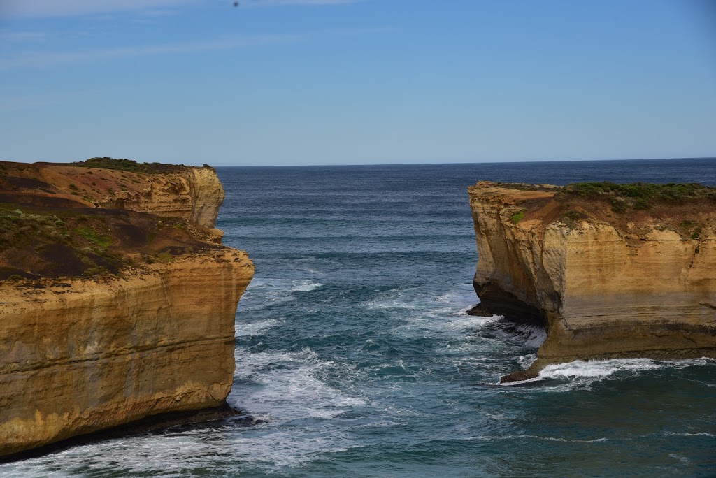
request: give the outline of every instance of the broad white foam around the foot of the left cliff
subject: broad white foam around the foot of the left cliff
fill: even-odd
[[[271,321],[257,324],[274,325]],[[95,476],[109,469],[117,476],[181,477],[199,467],[217,472],[221,471],[217,467],[236,470],[237,463],[264,469],[296,467],[319,455],[359,447],[332,419],[367,401],[324,383],[324,373],[342,374],[350,381],[357,371],[321,360],[310,348],[290,353],[251,353],[238,348],[235,376],[245,383],[234,387],[228,401],[268,422],[247,428],[227,425],[160,436],[142,434],[82,445],[0,466],[0,478]],[[300,420],[299,424],[292,424],[294,420]]]

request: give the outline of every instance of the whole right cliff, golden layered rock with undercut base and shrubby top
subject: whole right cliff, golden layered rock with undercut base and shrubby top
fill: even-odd
[[[716,357],[716,189],[478,182],[475,315],[541,323],[526,371],[593,358]]]

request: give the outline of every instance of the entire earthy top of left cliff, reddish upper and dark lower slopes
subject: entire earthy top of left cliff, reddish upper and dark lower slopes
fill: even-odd
[[[190,208],[180,175],[193,169],[108,157],[0,162],[0,281],[117,274],[221,248],[211,242],[220,237],[216,230],[125,208],[157,185],[166,201]]]

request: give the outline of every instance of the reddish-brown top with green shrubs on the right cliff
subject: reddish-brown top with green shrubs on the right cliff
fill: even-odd
[[[563,187],[480,181],[468,187],[480,202],[513,208],[512,222],[607,223],[625,235],[644,236],[652,228],[698,239],[716,219],[716,187],[635,182],[578,182]]]

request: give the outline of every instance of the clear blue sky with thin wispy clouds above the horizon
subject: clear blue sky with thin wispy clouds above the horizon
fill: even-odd
[[[716,156],[712,0],[0,0],[0,159]]]

